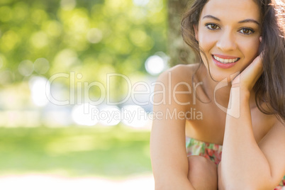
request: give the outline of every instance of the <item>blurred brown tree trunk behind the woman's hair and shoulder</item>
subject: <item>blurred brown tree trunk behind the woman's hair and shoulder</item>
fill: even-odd
[[[195,55],[181,37],[181,18],[193,0],[168,0],[168,55],[169,65],[194,63]]]

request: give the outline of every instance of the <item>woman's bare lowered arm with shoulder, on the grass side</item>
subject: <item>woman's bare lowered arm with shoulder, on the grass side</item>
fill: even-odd
[[[161,74],[155,86],[150,152],[155,181],[183,179],[188,174],[185,147],[185,118],[178,113],[189,109],[189,85],[180,80],[177,70]],[[191,77],[189,77],[191,78]],[[180,84],[179,84],[180,83]],[[175,88],[175,86],[177,86]],[[189,91],[178,93],[175,91]]]

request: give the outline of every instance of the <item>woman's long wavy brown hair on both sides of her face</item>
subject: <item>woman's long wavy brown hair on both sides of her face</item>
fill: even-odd
[[[262,42],[259,53],[262,56],[264,72],[254,86],[255,101],[260,111],[275,114],[285,121],[285,4],[281,0],[254,0],[259,6],[262,18]],[[202,63],[199,43],[195,38],[194,26],[198,26],[203,6],[208,0],[195,0],[186,9],[181,21],[184,42],[191,47],[196,61]],[[264,108],[262,103],[266,103]]]

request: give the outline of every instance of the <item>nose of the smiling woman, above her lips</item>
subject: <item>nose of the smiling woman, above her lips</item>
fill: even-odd
[[[223,33],[221,33],[216,45],[220,50],[223,50],[223,52],[235,50],[235,48],[237,47],[235,42],[235,36],[233,35],[233,33],[227,30],[224,30]]]

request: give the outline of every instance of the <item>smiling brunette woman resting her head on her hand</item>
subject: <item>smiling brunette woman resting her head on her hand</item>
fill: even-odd
[[[182,36],[199,64],[173,67],[155,86],[155,189],[281,189],[284,2],[196,0]]]

